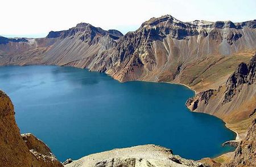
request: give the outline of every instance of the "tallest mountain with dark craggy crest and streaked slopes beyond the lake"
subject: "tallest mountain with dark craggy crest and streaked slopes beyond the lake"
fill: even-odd
[[[188,63],[256,49],[256,21],[180,22],[170,15],[152,18],[120,38],[107,73],[115,79],[183,82]],[[217,57],[217,58],[216,58]],[[199,66],[200,67],[200,66]]]

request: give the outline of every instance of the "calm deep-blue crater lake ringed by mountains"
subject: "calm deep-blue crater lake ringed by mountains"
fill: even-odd
[[[0,67],[0,88],[13,100],[22,133],[42,139],[60,161],[141,144],[198,160],[233,148],[235,134],[207,114],[192,113],[182,85],[119,83],[105,74],[57,66]]]

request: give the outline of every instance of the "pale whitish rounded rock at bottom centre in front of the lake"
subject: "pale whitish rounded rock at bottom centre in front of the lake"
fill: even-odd
[[[206,166],[200,162],[186,160],[173,155],[171,149],[157,145],[139,145],[130,148],[92,154],[73,161],[65,167],[84,166]]]

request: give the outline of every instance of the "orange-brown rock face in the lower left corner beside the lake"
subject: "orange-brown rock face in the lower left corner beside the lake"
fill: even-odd
[[[0,102],[0,166],[63,166],[35,136],[20,135],[13,103],[2,91]]]

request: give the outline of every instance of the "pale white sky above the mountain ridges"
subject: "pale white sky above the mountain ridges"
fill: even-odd
[[[6,37],[45,37],[81,22],[125,34],[166,14],[183,22],[256,19],[256,0],[4,0],[0,6]]]

